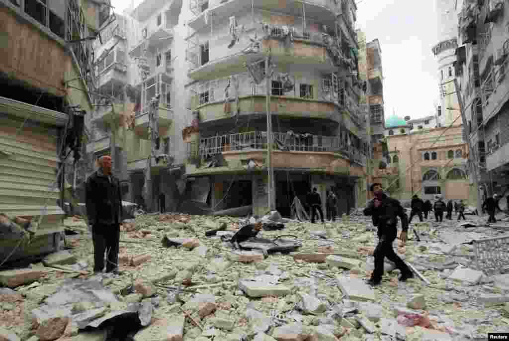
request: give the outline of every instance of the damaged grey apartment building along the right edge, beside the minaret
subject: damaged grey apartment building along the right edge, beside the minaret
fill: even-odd
[[[499,194],[507,209],[509,185],[509,3],[463,0],[456,7],[458,77],[478,196]]]

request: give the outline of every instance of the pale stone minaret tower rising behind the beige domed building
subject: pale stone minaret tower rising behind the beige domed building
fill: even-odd
[[[438,61],[441,116],[437,123],[442,127],[450,125],[461,116],[458,94],[455,93],[454,82],[451,81],[456,77],[453,63],[456,61],[455,53],[458,47],[458,12],[461,10],[461,2],[459,3],[456,8],[457,0],[436,0],[438,43],[432,51]],[[461,118],[455,122],[455,125],[459,124],[462,124]]]

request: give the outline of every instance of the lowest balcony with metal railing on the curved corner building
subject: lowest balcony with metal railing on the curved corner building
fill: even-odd
[[[364,153],[346,140],[337,136],[321,136],[312,134],[272,133],[275,153],[295,152],[300,154],[309,153],[335,153],[335,157],[348,159],[358,165],[365,166],[366,157]],[[189,145],[192,145],[189,144]],[[234,156],[249,154],[251,152],[265,151],[267,149],[267,132],[251,131],[228,135],[213,136],[200,139],[199,148],[188,146],[190,157],[196,157],[197,151],[202,161],[209,159],[216,154],[227,154]],[[300,167],[313,167],[309,164],[301,164]]]

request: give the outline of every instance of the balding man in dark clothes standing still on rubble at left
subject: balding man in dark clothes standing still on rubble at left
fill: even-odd
[[[120,183],[111,174],[111,157],[97,161],[99,169],[89,176],[86,186],[86,205],[94,242],[94,272],[119,273],[120,223],[122,222],[122,196]]]

